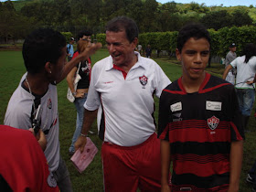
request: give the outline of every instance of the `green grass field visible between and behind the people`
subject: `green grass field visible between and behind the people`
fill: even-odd
[[[108,52],[105,48],[102,48],[95,55],[92,56],[92,62],[108,56]],[[155,59],[155,58],[154,58]],[[166,75],[170,80],[176,80],[181,75],[181,67],[174,64],[175,59],[155,59],[155,61],[164,69]],[[208,69],[215,74],[219,71],[223,71],[223,67],[220,64],[212,64],[212,68]],[[21,51],[0,51],[0,123],[4,123],[5,110],[8,101],[16,90],[20,78],[26,72],[24,67]],[[69,168],[69,173],[73,188],[75,192],[83,191],[103,191],[103,179],[102,179],[102,166],[101,166],[101,140],[97,135],[90,135],[91,140],[99,149],[98,154],[95,156],[91,165],[80,174],[75,167],[71,164],[69,158],[69,144],[75,130],[76,124],[76,110],[73,103],[70,103],[66,99],[68,90],[68,84],[66,80],[63,80],[58,85],[59,93],[59,141],[60,141],[60,153]],[[157,122],[158,116],[158,99],[155,98],[155,119]],[[240,179],[240,191],[248,192],[251,191],[251,186],[245,182],[248,169],[256,159],[256,132],[255,132],[255,120],[253,117],[254,109],[251,114],[251,120],[249,123],[251,133],[246,133],[246,141],[244,144],[244,160],[242,166],[242,174]],[[92,127],[92,131],[96,132],[96,123]]]

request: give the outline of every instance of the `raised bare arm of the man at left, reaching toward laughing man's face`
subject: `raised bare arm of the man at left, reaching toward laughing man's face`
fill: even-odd
[[[101,47],[102,47],[101,43],[92,44],[91,47],[86,48],[76,58],[71,59],[64,66],[63,73],[59,78],[59,80],[56,80],[56,82],[59,83],[61,80],[64,80],[69,74],[71,69],[73,69],[80,61],[88,59],[92,54],[96,52],[96,50],[98,50]]]

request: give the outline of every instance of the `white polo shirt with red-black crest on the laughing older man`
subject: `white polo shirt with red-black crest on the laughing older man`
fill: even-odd
[[[89,111],[99,108],[100,137],[121,146],[142,144],[155,133],[154,91],[159,98],[171,83],[153,59],[135,54],[138,61],[126,77],[121,70],[113,68],[111,56],[98,61],[91,70],[90,89],[84,104]]]

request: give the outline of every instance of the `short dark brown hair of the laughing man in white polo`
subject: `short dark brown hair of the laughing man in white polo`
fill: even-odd
[[[117,16],[108,22],[106,31],[121,32],[125,31],[127,39],[133,42],[135,37],[139,37],[139,30],[132,18],[127,16]]]

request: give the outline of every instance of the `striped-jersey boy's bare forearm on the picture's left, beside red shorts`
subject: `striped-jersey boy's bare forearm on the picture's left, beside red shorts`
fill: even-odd
[[[169,187],[169,173],[170,173],[170,143],[161,140],[161,191],[171,191]]]

